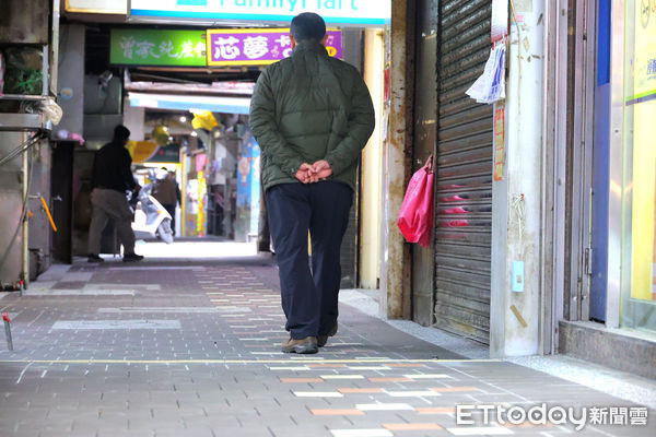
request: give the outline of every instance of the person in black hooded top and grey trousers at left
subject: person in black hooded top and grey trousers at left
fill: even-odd
[[[134,253],[134,232],[132,231],[132,211],[126,191],[139,192],[141,187],[134,181],[130,168],[132,158],[125,145],[130,131],[122,125],[114,129],[114,138],[105,144],[93,161],[91,186],[91,226],[89,228],[89,262],[103,262],[99,257],[103,229],[112,218],[124,246],[124,261],[141,261],[142,256]]]

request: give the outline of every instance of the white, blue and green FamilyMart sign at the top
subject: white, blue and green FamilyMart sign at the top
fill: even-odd
[[[130,0],[131,21],[200,21],[220,24],[288,24],[302,12],[316,12],[332,26],[383,26],[391,0]]]

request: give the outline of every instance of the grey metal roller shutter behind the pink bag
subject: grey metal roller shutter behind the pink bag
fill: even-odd
[[[440,3],[436,326],[489,343],[493,113],[465,91],[490,54],[492,1]]]

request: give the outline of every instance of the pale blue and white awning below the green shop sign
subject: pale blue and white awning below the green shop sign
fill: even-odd
[[[248,114],[250,98],[128,93],[130,106],[176,110],[211,110],[223,114]]]

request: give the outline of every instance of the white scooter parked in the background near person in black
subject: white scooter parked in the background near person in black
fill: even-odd
[[[134,220],[132,231],[136,238],[159,237],[167,245],[173,243],[173,231],[171,229],[171,214],[157,200],[151,196],[152,184],[148,184],[132,199]]]

